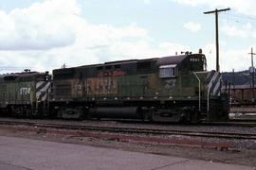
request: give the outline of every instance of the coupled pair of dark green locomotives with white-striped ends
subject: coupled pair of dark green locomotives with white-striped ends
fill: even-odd
[[[203,54],[131,59],[0,77],[0,108],[14,115],[227,121],[221,74]]]

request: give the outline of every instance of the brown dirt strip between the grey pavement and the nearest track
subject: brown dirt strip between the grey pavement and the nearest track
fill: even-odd
[[[214,147],[201,147],[178,144],[156,144],[134,141],[119,141],[115,139],[100,139],[82,136],[50,134],[44,132],[28,132],[15,130],[0,130],[1,136],[12,136],[44,140],[57,143],[85,144],[96,147],[111,147],[120,150],[153,153],[157,155],[176,156],[193,160],[218,161],[233,164],[256,166],[256,149],[225,150]]]

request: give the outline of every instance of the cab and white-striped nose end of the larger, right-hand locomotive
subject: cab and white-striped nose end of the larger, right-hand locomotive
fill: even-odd
[[[159,68],[159,98],[164,105],[154,114],[155,121],[220,119],[215,116],[219,110],[213,110],[212,106],[218,105],[215,101],[220,101],[221,74],[207,71],[205,55],[165,57],[156,63]]]

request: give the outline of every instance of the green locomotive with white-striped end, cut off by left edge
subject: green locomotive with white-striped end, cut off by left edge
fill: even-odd
[[[23,72],[0,76],[1,114],[33,116],[48,114],[50,76],[48,72]]]

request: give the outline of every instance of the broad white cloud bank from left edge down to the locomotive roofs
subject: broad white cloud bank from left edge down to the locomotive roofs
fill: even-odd
[[[153,48],[154,39],[136,23],[92,25],[80,13],[76,0],[46,0],[9,13],[0,10],[0,72],[51,71],[64,63],[72,67],[155,58],[188,49],[174,43]]]

